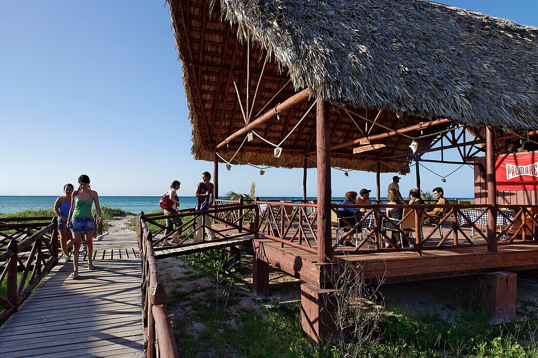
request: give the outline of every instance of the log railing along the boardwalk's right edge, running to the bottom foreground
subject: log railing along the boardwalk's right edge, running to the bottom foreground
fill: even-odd
[[[166,313],[168,296],[159,282],[153,235],[147,230],[144,213],[137,217],[137,237],[142,261],[142,320],[146,341],[145,356],[179,357],[172,323]]]

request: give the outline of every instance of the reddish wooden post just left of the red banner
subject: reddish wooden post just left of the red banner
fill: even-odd
[[[494,140],[492,128],[486,126],[486,190],[487,203],[491,205],[487,216],[487,238],[491,241],[491,245],[487,247],[489,252],[497,252],[497,188],[495,188]]]

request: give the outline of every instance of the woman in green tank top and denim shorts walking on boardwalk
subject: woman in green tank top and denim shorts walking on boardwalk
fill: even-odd
[[[101,206],[99,205],[99,196],[97,191],[90,189],[90,178],[82,174],[79,176],[79,190],[73,193],[71,210],[67,226],[73,232],[73,272],[69,275],[70,278],[75,278],[79,275],[79,252],[82,235],[86,241],[86,250],[88,252],[88,270],[95,268],[92,261],[93,257],[93,239],[95,222],[91,216],[91,205],[95,202],[95,210],[97,211],[97,223],[101,223]]]

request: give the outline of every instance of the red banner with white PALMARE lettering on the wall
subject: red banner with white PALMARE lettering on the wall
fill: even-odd
[[[495,179],[497,190],[538,190],[538,152],[499,155]]]

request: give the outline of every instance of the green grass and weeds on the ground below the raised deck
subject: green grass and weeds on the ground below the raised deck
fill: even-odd
[[[198,292],[198,290],[196,290]],[[172,294],[190,313],[174,320],[181,356],[343,358],[336,345],[313,346],[302,331],[300,303],[274,302],[268,309],[240,307],[216,310],[211,295],[189,300],[188,292]],[[231,301],[233,302],[233,301]],[[173,304],[173,303],[172,303]],[[202,325],[189,331],[193,323]],[[437,314],[411,316],[387,312],[370,342],[348,340],[348,352],[362,347],[364,358],[532,358],[538,356],[536,321],[489,326],[480,312],[463,312],[454,322]],[[526,339],[528,346],[517,340]],[[208,354],[210,352],[210,354]]]

